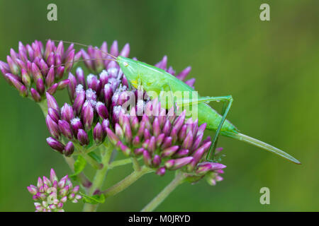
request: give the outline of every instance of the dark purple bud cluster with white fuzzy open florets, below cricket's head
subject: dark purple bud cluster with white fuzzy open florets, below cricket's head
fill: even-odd
[[[68,90],[72,105],[65,103],[61,109],[55,98],[47,93],[46,121],[52,136],[47,138],[47,143],[51,148],[69,156],[74,150],[72,142],[82,146],[103,143],[106,128],[110,125],[108,103],[113,90],[121,83],[118,77],[122,75],[116,67],[103,70],[99,77],[89,74],[85,78],[81,68],[77,69],[75,76],[69,73]],[[69,140],[67,145],[62,143],[62,136]]]

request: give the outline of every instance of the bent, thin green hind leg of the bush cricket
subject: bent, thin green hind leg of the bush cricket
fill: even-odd
[[[209,157],[211,156],[211,153],[213,151],[213,154],[215,153],[215,149],[216,149],[216,144],[217,144],[217,141],[218,141],[218,136],[219,136],[219,133],[220,133],[220,129],[222,128],[224,122],[225,122],[225,119],[226,119],[226,116],[230,110],[230,107],[232,106],[233,104],[233,97],[231,95],[227,95],[227,96],[221,96],[221,97],[198,97],[198,100],[183,100],[183,102],[178,102],[177,104],[179,105],[196,105],[200,102],[211,102],[211,101],[216,101],[216,102],[220,102],[222,101],[223,102],[223,110],[222,110],[222,114],[223,114],[223,117],[222,119],[220,120],[220,123],[218,125],[218,128],[216,130],[216,133],[215,133],[215,136],[213,138],[213,141],[212,141],[212,144],[211,144],[211,148],[209,149],[208,151],[208,154],[206,155],[206,160],[209,159]]]

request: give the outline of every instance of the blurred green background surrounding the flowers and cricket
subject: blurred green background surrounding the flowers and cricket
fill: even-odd
[[[49,3],[57,4],[56,22],[47,21]],[[271,21],[259,20],[262,3],[270,5]],[[220,138],[227,155],[225,180],[215,187],[183,184],[157,210],[318,211],[318,8],[316,0],[1,0],[0,59],[6,60],[11,47],[18,49],[18,41],[118,40],[120,47],[130,43],[130,57],[149,64],[167,54],[177,71],[191,65],[201,95],[233,95],[228,119],[241,131],[283,148],[303,165]],[[38,106],[3,78],[0,106],[0,210],[33,211],[26,186],[51,167],[60,177],[70,171],[45,142],[48,132]],[[106,187],[130,170],[108,174]],[[147,174],[99,210],[140,210],[172,177]],[[270,205],[263,206],[259,189],[264,186]],[[66,210],[82,205],[69,203]]]

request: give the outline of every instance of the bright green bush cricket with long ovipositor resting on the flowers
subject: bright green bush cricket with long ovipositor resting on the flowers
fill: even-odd
[[[77,42],[66,43],[79,44],[88,47],[85,44]],[[107,52],[104,53],[108,54]],[[128,79],[129,83],[135,88],[138,88],[138,86],[142,85],[142,88],[145,91],[152,91],[158,95],[164,90],[164,88],[168,89],[172,93],[177,91],[194,92],[194,89],[189,85],[183,81],[180,81],[175,76],[172,76],[167,71],[157,68],[156,66],[145,64],[141,61],[136,61],[127,57],[115,57],[111,54],[108,54],[108,56],[112,57],[112,59],[106,60],[116,61],[121,67],[121,70]],[[208,102],[211,101],[223,102],[222,114],[218,114],[215,109],[208,105]],[[218,136],[221,134],[223,136],[235,138],[239,141],[245,141],[246,143],[250,143],[271,153],[284,157],[286,160],[289,160],[293,163],[301,164],[301,162],[296,160],[296,158],[292,157],[288,153],[285,153],[283,150],[275,148],[268,143],[259,141],[256,138],[252,138],[240,133],[240,131],[230,121],[228,121],[228,119],[226,119],[226,116],[233,103],[233,97],[231,95],[220,97],[198,97],[194,100],[176,100],[176,102],[174,102],[174,106],[175,104],[183,105],[183,103],[186,103],[187,105],[196,105],[198,107],[198,124],[206,123],[206,129],[216,131],[211,148],[206,156],[206,160],[209,160],[211,153],[215,151]]]

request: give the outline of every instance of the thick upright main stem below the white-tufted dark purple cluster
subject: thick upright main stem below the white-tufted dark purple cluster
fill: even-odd
[[[87,194],[89,194],[89,196],[94,195],[96,192],[99,193],[101,187],[103,186],[103,182],[104,182],[104,179],[106,177],[106,173],[108,172],[108,162],[111,158],[112,151],[113,151],[113,148],[108,148],[108,150],[106,150],[106,152],[104,153],[103,158],[102,158],[103,167],[96,171],[96,174],[95,174],[94,179],[93,179],[93,184],[92,184],[91,188],[89,189],[89,192],[87,193]],[[98,206],[99,206],[99,204],[92,205],[90,203],[85,203],[84,207],[83,207],[83,211],[84,212],[94,212],[94,211],[96,211]]]

